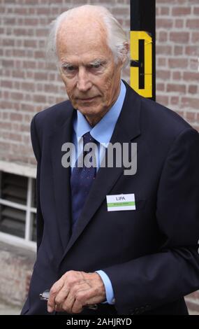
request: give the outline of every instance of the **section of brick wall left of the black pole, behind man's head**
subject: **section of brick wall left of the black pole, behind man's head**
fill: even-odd
[[[31,118],[66,99],[57,69],[46,65],[44,50],[48,25],[74,3],[104,4],[129,30],[125,0],[1,0],[0,160],[35,163],[29,139]]]

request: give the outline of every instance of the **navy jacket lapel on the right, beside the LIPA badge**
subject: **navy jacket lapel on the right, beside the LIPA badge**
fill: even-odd
[[[126,83],[125,83],[126,84]],[[126,97],[121,110],[119,119],[115,126],[110,142],[115,144],[129,143],[140,134],[140,97],[136,94],[131,87],[126,84]],[[107,153],[107,152],[106,152]],[[88,225],[91,218],[94,216],[97,209],[105,200],[105,196],[115,185],[119,176],[123,174],[124,167],[113,168],[100,168],[96,175],[96,179],[91,187],[87,201],[84,204],[80,218],[76,228],[71,236],[70,241],[66,247],[64,256],[69,251],[71,246],[78,239],[84,228]],[[64,256],[62,259],[64,259]]]

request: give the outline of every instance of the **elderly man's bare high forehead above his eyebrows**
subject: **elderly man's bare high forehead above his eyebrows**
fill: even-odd
[[[111,53],[105,28],[92,20],[73,20],[61,24],[57,32],[57,52],[59,59],[87,57],[88,60],[103,59]]]

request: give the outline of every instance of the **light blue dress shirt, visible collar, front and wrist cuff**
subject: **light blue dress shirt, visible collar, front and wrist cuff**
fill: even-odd
[[[73,120],[73,144],[75,145],[75,154],[72,153],[71,157],[71,167],[75,165],[76,160],[78,159],[79,155],[82,153],[83,150],[83,141],[82,136],[87,132],[90,132],[91,136],[98,141],[99,148],[98,148],[98,155],[97,155],[97,170],[100,167],[101,161],[103,159],[103,155],[105,153],[105,148],[108,148],[108,144],[112,137],[113,130],[115,129],[115,125],[117,123],[117,119],[119,118],[119,114],[121,112],[121,108],[124,103],[124,98],[126,95],[126,87],[124,83],[121,81],[121,87],[119,92],[119,97],[117,101],[108,113],[103,116],[103,118],[94,126],[91,127],[87,122],[86,118],[77,111],[78,115]],[[108,304],[115,304],[115,297],[112,289],[112,283],[105,272],[102,270],[96,271],[103,280],[105,285],[105,293],[106,293],[106,300]]]

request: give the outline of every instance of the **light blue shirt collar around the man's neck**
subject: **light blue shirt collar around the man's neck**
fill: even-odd
[[[75,130],[78,142],[84,134],[90,132],[91,136],[96,139],[98,143],[103,144],[103,146],[105,147],[108,147],[108,143],[110,142],[113,130],[115,128],[117,119],[119,118],[119,114],[124,103],[125,95],[126,87],[123,81],[121,81],[121,87],[117,101],[94,127],[91,127],[91,125],[89,125],[82,113],[80,113],[80,111],[77,111],[78,116],[73,122],[73,128]]]

